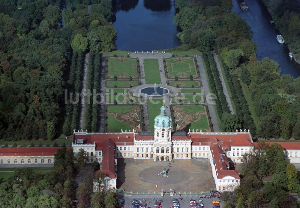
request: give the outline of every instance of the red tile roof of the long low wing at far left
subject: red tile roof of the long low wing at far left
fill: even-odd
[[[7,147],[0,148],[0,153],[1,156],[54,156],[59,148],[61,147]]]

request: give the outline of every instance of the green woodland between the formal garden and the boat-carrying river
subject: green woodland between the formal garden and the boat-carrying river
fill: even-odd
[[[236,115],[228,114],[221,86],[216,86],[221,130],[234,131],[238,127],[250,129],[253,136],[264,139],[300,139],[300,78],[280,76],[274,60],[256,59],[252,31],[244,19],[231,12],[232,1],[176,0],[175,6],[179,12],[174,22],[182,29],[177,35],[183,43],[181,47],[201,51],[212,73],[215,66],[210,52],[221,57],[236,108]],[[214,80],[209,84],[214,88],[212,82],[217,84],[217,74],[212,75]],[[243,86],[249,91],[252,108],[243,96]]]

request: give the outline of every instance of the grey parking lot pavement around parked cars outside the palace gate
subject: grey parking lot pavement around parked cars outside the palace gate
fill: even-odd
[[[146,203],[147,203],[147,207],[151,207],[151,208],[154,208],[153,204],[155,203],[156,200],[162,200],[163,202],[161,203],[161,206],[163,208],[169,208],[171,205],[172,205],[172,199],[173,198],[176,198],[176,199],[179,199],[179,196],[164,196],[164,197],[158,197],[156,196],[155,199],[152,201],[152,198],[153,197],[137,197],[137,196],[120,196],[119,198],[123,198],[125,201],[124,201],[124,208],[132,208],[132,205],[131,205],[131,201],[133,199],[136,199],[136,200],[139,200],[139,199],[145,199],[146,200]],[[189,208],[190,207],[190,200],[193,199],[193,200],[196,200],[196,199],[199,199],[199,196],[196,197],[196,196],[183,196],[183,199],[182,200],[179,200],[179,203],[180,203],[180,207],[181,208]],[[202,203],[204,204],[204,207],[205,208],[212,208],[212,203],[211,201],[214,199],[214,198],[211,198],[211,199],[207,199],[207,198],[200,198],[202,199]],[[220,207],[223,206],[223,203],[220,202]]]

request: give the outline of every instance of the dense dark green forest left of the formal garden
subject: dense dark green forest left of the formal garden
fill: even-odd
[[[77,129],[79,104],[65,105],[64,89],[80,93],[85,53],[100,62],[99,51],[115,49],[114,19],[110,0],[0,1],[0,139],[51,140]]]

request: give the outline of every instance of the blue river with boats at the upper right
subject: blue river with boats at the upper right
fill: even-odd
[[[245,0],[248,10],[241,10],[237,1],[232,0],[232,11],[241,16],[253,31],[253,41],[258,46],[257,59],[268,57],[279,63],[282,74],[290,74],[294,78],[300,76],[300,65],[292,60],[288,54],[286,44],[279,44],[276,36],[279,31],[270,24],[271,16],[261,0]]]

